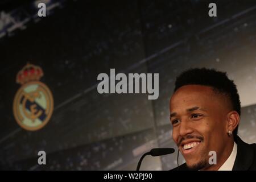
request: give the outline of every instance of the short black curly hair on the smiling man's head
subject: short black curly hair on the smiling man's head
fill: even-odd
[[[230,80],[226,72],[216,71],[207,68],[191,68],[181,73],[175,82],[174,92],[184,85],[205,85],[211,86],[214,92],[224,94],[230,100],[233,110],[241,115],[241,102],[237,92],[237,86]],[[234,130],[237,135],[238,126]]]

